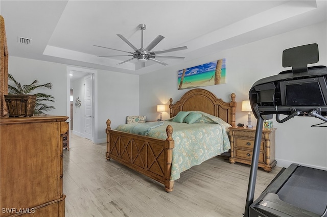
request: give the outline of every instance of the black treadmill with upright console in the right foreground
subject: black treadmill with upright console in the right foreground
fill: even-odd
[[[291,164],[283,168],[253,202],[264,120],[276,115],[278,123],[296,116],[327,122],[327,67],[319,61],[317,44],[283,51],[283,67],[292,70],[254,83],[249,99],[256,124],[244,216],[327,216],[327,171]],[[324,135],[325,136],[325,135]]]

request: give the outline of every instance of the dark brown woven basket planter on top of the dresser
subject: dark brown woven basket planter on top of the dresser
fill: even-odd
[[[5,95],[9,117],[33,116],[36,95]]]

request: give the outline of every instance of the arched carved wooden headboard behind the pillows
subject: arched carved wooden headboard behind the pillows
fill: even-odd
[[[236,126],[235,93],[232,93],[230,97],[230,102],[224,102],[210,91],[193,89],[186,92],[175,104],[173,104],[173,99],[170,99],[170,117],[176,116],[179,111],[201,111],[217,116],[230,125]]]

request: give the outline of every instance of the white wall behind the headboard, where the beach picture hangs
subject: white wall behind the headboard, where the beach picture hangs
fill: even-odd
[[[241,102],[248,99],[248,92],[253,83],[261,78],[291,69],[282,67],[284,49],[317,43],[320,61],[315,65],[327,65],[326,26],[327,23],[322,22],[141,75],[139,79],[139,111],[146,115],[147,119],[158,119],[159,113],[155,110],[156,104],[160,102],[169,104],[170,98],[176,102],[190,90],[178,90],[178,70],[226,58],[227,83],[207,86],[203,89],[213,92],[225,101],[230,100],[230,93],[236,93],[238,103],[236,122],[246,123],[247,113],[241,112]],[[162,116],[163,119],[169,118],[169,110]],[[253,115],[252,122],[253,125],[256,124]],[[278,166],[288,167],[291,162],[298,162],[302,165],[327,169],[327,130],[325,127],[310,127],[312,124],[320,122],[318,119],[307,117],[294,118],[284,124],[273,121],[274,127],[277,128],[276,160]]]

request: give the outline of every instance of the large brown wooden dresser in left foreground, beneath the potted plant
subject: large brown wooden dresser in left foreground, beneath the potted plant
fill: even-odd
[[[0,216],[64,216],[66,116],[0,118]]]

